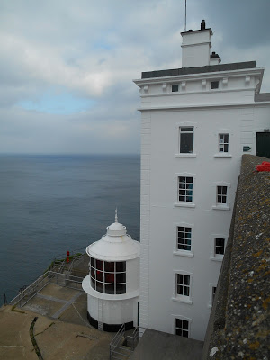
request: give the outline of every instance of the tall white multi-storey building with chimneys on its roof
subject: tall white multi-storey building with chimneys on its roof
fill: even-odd
[[[140,326],[203,340],[240,159],[270,128],[255,61],[220,65],[211,29],[182,33],[182,68],[142,73]],[[265,132],[264,132],[265,131]]]

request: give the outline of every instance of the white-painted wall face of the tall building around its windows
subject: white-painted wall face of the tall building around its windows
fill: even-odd
[[[162,94],[162,80],[159,94],[157,84],[157,95],[151,95],[151,85],[148,95],[141,92],[142,108],[148,109],[142,110],[141,127],[141,326],[174,333],[180,317],[190,321],[191,338],[204,338],[211,285],[217,284],[221,265],[212,258],[213,238],[229,234],[243,146],[255,154],[257,130],[269,128],[269,103],[254,103],[257,80],[251,76],[243,89],[245,76],[229,80],[232,91],[226,92]],[[181,124],[194,126],[195,157],[179,156]],[[218,134],[227,132],[229,157],[220,157]],[[182,173],[193,175],[194,208],[175,206]],[[220,182],[229,184],[229,210],[213,208]],[[174,253],[176,226],[183,222],[193,226],[193,257]],[[192,276],[192,303],[175,296],[177,272]]]

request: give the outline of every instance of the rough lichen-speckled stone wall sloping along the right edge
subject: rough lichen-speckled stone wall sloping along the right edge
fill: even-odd
[[[243,155],[228,245],[202,359],[268,359],[270,173]]]

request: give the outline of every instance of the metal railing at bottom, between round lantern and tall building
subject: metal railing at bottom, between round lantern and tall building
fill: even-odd
[[[131,335],[126,335],[125,324],[122,324],[110,343],[110,360],[128,359],[134,352],[144,331],[144,328],[136,327]]]

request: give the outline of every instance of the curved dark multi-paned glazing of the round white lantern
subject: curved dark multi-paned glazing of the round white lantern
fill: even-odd
[[[126,262],[90,259],[91,286],[99,293],[126,293]]]

